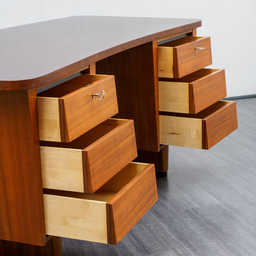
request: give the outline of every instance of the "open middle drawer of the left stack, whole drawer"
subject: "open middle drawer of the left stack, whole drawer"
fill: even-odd
[[[133,120],[108,119],[71,142],[40,144],[43,188],[94,193],[137,157]]]

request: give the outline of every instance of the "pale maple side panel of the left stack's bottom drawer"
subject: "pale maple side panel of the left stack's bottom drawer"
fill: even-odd
[[[106,203],[44,194],[46,233],[107,244]]]

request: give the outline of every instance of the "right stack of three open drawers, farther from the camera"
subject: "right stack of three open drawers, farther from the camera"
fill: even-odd
[[[225,71],[211,64],[210,37],[158,45],[160,144],[209,149],[237,129],[236,102],[221,100]]]

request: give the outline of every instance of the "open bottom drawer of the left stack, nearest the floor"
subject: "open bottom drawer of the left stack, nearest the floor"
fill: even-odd
[[[154,164],[130,163],[94,194],[44,189],[46,234],[118,244],[156,200]]]

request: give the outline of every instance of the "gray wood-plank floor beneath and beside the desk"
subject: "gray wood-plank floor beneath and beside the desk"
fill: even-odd
[[[169,148],[158,201],[117,245],[63,238],[63,256],[256,255],[256,98],[210,150]]]

